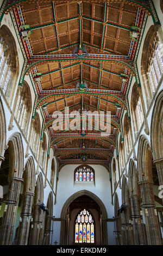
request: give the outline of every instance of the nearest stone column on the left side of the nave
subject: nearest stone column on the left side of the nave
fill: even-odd
[[[7,211],[4,212],[1,231],[0,231],[0,244],[1,245],[12,245],[12,239],[14,235],[17,204],[20,196],[22,178],[13,177],[11,186],[9,189],[9,200],[15,200],[16,208],[14,204],[8,204]]]

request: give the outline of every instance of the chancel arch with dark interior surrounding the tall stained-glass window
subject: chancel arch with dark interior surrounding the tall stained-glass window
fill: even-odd
[[[79,206],[78,206],[78,208],[76,207],[78,205],[78,202],[80,204],[80,209],[79,209]],[[92,207],[90,202],[92,205],[95,205],[95,208],[90,209],[90,207]],[[84,205],[85,205],[85,208],[84,208]],[[72,209],[75,209],[74,211],[72,211],[71,206],[72,206]],[[98,244],[102,244],[102,245],[107,244],[108,243],[107,225],[106,225],[106,222],[104,221],[107,218],[107,212],[106,212],[105,206],[102,203],[102,201],[95,194],[93,194],[90,191],[83,190],[83,191],[79,191],[79,192],[73,194],[70,198],[68,198],[62,208],[62,211],[61,211],[61,220],[62,220],[61,221],[61,230],[62,231],[60,233],[60,245],[74,244],[74,241],[75,241],[74,240],[74,228],[75,228],[74,221],[76,219],[76,215],[78,214],[79,210],[81,210],[81,209],[82,210],[83,209],[90,210],[92,212],[92,214],[93,214],[93,209],[94,209],[95,214],[97,216],[99,216],[99,218],[101,218],[102,236],[97,234],[95,231],[96,244],[97,245]],[[71,226],[69,229],[69,230],[71,230],[71,233],[69,233],[69,235],[68,235],[66,232],[68,222],[66,220],[67,220],[67,217],[69,216],[69,214],[71,214],[71,213],[73,214],[73,218],[72,218],[73,222],[71,223]],[[95,217],[95,214],[94,214],[94,217]],[[96,218],[95,218],[95,221],[96,221]],[[99,224],[99,221],[98,221],[98,224]],[[100,230],[100,226],[98,228]],[[97,230],[97,225],[96,225],[96,230]],[[97,237],[98,237],[98,240],[97,240]]]

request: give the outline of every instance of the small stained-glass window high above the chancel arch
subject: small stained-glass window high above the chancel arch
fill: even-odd
[[[82,165],[74,170],[74,181],[95,181],[95,170],[87,165]]]

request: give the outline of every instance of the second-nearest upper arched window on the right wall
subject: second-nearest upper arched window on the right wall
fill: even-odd
[[[136,87],[136,84],[134,84],[132,94],[131,94],[131,113],[132,113],[133,124],[134,124],[134,132],[137,133],[139,132],[140,127],[143,123],[143,110],[142,110],[140,94]]]

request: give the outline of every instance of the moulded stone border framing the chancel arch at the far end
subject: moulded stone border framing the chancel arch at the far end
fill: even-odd
[[[78,191],[77,193],[72,194],[72,196],[70,198],[68,198],[64,204],[64,206],[62,207],[61,210],[61,232],[60,232],[60,245],[64,245],[65,244],[65,219],[66,219],[66,211],[68,209],[68,206],[73,202],[74,199],[80,197],[80,196],[89,196],[91,197],[93,200],[95,200],[95,202],[99,205],[99,208],[102,211],[102,218],[103,218],[103,222],[102,222],[102,231],[103,231],[103,245],[107,245],[108,244],[108,234],[107,234],[107,223],[106,223],[106,218],[108,218],[108,214],[105,208],[105,205],[103,204],[102,200],[99,199],[95,194],[93,194],[90,191],[87,190],[82,190],[82,191]]]

